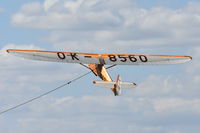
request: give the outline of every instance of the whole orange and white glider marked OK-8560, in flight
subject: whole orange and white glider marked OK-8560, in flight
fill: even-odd
[[[111,88],[115,96],[119,96],[122,89],[135,88],[137,85],[132,82],[121,81],[120,75],[117,76],[116,81],[113,81],[107,72],[108,68],[116,65],[178,64],[192,60],[191,56],[177,55],[91,54],[21,49],[8,49],[7,52],[15,56],[32,60],[79,63],[90,69],[96,76],[100,77],[101,81],[93,81],[94,85],[103,88]],[[110,66],[106,68],[105,65]]]

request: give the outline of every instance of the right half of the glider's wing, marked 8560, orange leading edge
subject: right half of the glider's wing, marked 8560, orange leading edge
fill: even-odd
[[[103,54],[105,64],[109,65],[166,65],[184,63],[192,60],[190,56],[176,55],[126,55],[126,54]]]

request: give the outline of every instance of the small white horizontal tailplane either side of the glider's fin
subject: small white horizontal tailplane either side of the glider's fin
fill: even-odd
[[[102,88],[115,88],[116,82],[94,81],[93,84]],[[120,86],[122,89],[130,89],[135,88],[137,85],[131,82],[120,82]]]

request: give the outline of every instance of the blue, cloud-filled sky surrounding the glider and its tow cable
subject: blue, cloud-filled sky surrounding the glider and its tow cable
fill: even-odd
[[[12,4],[11,4],[12,3]],[[116,66],[138,84],[114,97],[94,75],[0,116],[5,133],[191,133],[200,130],[200,0],[1,0],[0,111],[88,72],[9,48],[190,55],[167,66]]]

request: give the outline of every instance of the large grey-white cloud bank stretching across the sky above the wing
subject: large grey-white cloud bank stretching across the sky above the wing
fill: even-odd
[[[16,27],[50,30],[46,41],[54,48],[84,52],[113,51],[113,46],[126,52],[141,47],[178,50],[199,44],[198,7],[198,3],[188,3],[182,9],[144,9],[132,0],[46,0],[23,5],[11,22]]]

